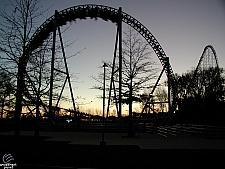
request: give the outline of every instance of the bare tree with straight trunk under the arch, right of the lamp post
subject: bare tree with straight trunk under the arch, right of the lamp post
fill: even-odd
[[[122,102],[129,105],[129,133],[132,135],[132,109],[133,102],[139,102],[139,94],[146,88],[151,86],[151,80],[156,78],[157,70],[153,67],[156,63],[151,59],[152,53],[148,43],[142,40],[139,34],[128,27],[124,33],[122,62],[123,62],[123,79],[122,79]],[[112,63],[107,64],[112,67]],[[115,65],[115,70],[118,65]],[[106,80],[110,80],[111,70],[106,73]],[[118,82],[118,72],[114,74],[115,83]],[[93,77],[98,82],[102,82],[103,74],[99,74],[98,78]],[[102,90],[102,86],[96,85],[94,89]],[[116,92],[118,86],[115,86]],[[109,86],[107,88],[109,90]],[[118,95],[109,98],[114,102],[118,102]]]

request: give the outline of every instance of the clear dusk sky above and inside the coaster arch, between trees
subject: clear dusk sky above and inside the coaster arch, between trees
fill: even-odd
[[[52,16],[54,10],[76,5],[122,7],[123,12],[136,18],[155,36],[170,57],[175,73],[181,74],[195,67],[206,45],[214,47],[219,66],[225,68],[224,0],[41,0],[41,3],[44,8],[50,7],[46,18]],[[126,28],[123,24],[123,30]],[[101,92],[90,89],[96,84],[90,76],[102,72],[99,67],[103,60],[112,60],[115,35],[116,25],[101,19],[77,20],[64,35],[64,41],[77,40],[66,49],[67,55],[86,48],[68,61],[70,71],[79,77],[79,83],[72,84],[74,95],[85,98],[79,100],[87,103],[85,107],[102,107],[101,100],[96,99]],[[152,57],[159,62],[155,55]]]

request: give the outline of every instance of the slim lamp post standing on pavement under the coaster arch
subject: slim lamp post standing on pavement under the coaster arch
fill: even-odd
[[[106,146],[105,142],[105,68],[108,67],[106,63],[103,64],[103,100],[102,100],[102,141],[100,146]]]

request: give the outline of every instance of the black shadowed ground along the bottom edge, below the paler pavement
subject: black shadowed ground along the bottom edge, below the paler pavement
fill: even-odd
[[[49,137],[21,136],[19,153],[14,137],[0,135],[0,164],[4,154],[16,168],[221,168],[224,149],[141,149],[138,145],[69,144]],[[137,138],[138,139],[138,138]],[[18,147],[17,147],[18,148]],[[3,168],[1,166],[0,168]]]

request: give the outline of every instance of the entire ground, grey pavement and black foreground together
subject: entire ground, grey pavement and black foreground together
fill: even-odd
[[[42,131],[39,138],[21,131],[16,153],[13,133],[0,132],[0,158],[12,154],[15,168],[218,168],[225,155],[225,139],[218,138],[105,133],[106,147],[100,147],[101,133],[53,131]]]

